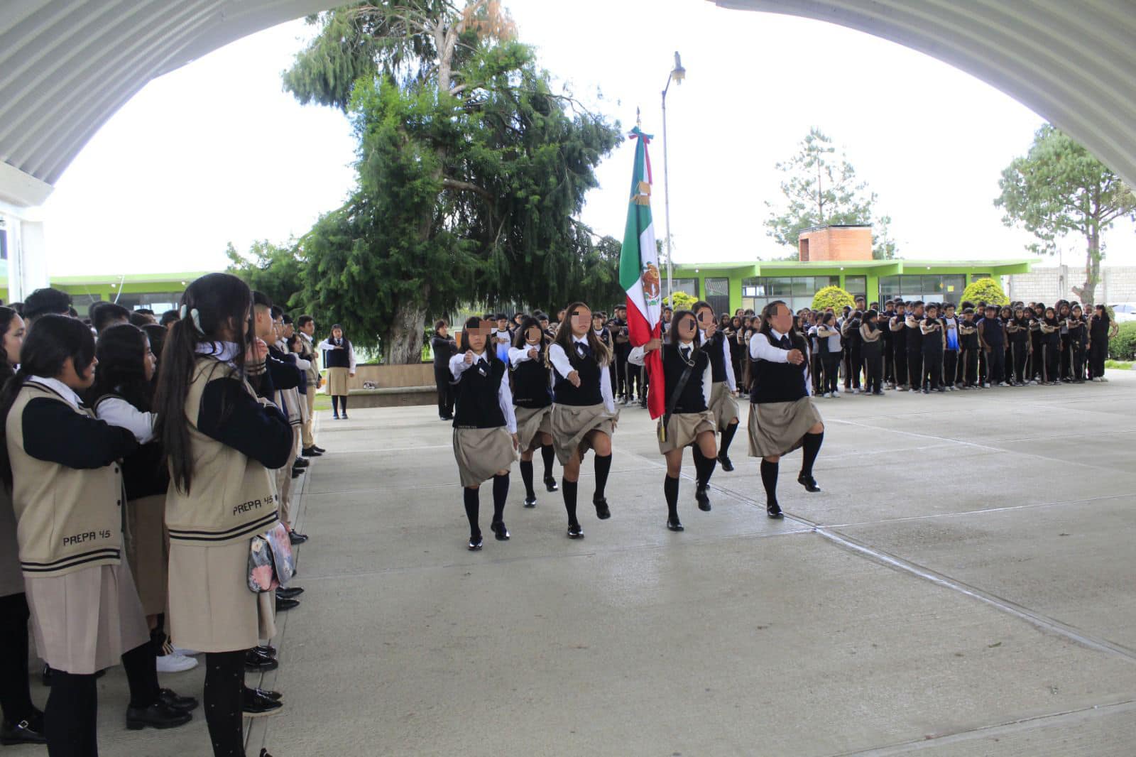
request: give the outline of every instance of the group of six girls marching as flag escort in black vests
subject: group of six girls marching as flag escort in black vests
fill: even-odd
[[[753,340],[752,360],[762,366],[766,378],[760,391],[751,394],[750,456],[762,458],[767,513],[782,517],[776,482],[779,457],[804,447],[804,461],[797,481],[807,491],[820,491],[812,477],[812,465],[820,449],[824,426],[808,391],[808,366],[802,357],[804,338],[787,324],[784,302],[771,303],[763,314],[765,327],[759,347]],[[509,469],[520,452],[525,506],[536,505],[532,459],[537,449],[544,458],[544,483],[557,490],[552,456],[563,467],[560,492],[568,517],[568,538],[582,539],[577,517],[579,469],[588,452],[594,452],[595,490],[592,504],[601,521],[611,517],[604,494],[611,469],[611,438],[619,421],[612,391],[612,341],[604,328],[602,314],[593,314],[584,302],[565,308],[554,328],[542,324],[542,315],[521,316],[512,334],[511,347],[499,356],[494,341],[503,342],[506,332],[496,318],[473,317],[466,321],[460,344],[451,348],[448,372],[457,400],[453,413],[453,451],[463,486],[469,521],[469,549],[484,546],[479,524],[478,490],[493,480],[493,519],[491,529],[500,541],[510,539],[504,525],[509,492]],[[668,314],[671,315],[671,314]],[[436,338],[446,339],[440,323]],[[783,330],[783,331],[778,331]],[[494,339],[494,336],[498,336]],[[729,340],[718,330],[718,319],[707,302],[692,310],[679,310],[668,319],[666,342],[651,340],[628,351],[628,361],[643,366],[652,351],[661,351],[666,413],[659,419],[659,451],[667,461],[663,494],[667,501],[667,527],[683,531],[678,516],[678,481],[683,451],[693,450],[695,466],[694,499],[699,509],[709,511],[710,477],[720,464],[733,471],[729,444],[738,425],[733,355]],[[503,359],[502,359],[503,358]],[[787,367],[787,369],[786,369]],[[645,372],[643,372],[645,373]],[[440,406],[441,409],[441,406]],[[716,439],[721,434],[721,444]]]

